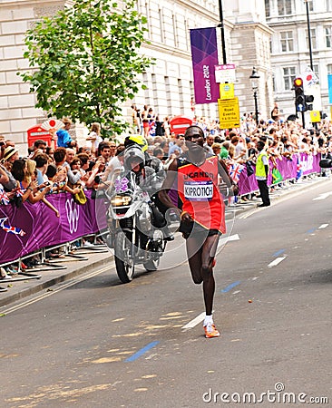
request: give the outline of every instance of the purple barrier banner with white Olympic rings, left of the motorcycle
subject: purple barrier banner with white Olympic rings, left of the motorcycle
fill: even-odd
[[[85,195],[88,200],[84,205],[76,204],[69,193],[47,196],[60,218],[41,201],[24,202],[20,208],[14,204],[0,206],[0,264],[106,227],[104,200],[91,199],[91,191],[85,191]]]

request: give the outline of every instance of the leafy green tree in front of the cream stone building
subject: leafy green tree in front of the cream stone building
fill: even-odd
[[[54,17],[36,22],[25,36],[31,72],[21,73],[49,116],[99,121],[103,135],[128,126],[122,102],[139,91],[139,73],[152,60],[139,54],[146,18],[133,0],[74,0]]]

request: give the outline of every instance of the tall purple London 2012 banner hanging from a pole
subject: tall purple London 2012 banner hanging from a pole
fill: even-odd
[[[218,65],[216,28],[190,30],[195,103],[214,103],[220,97],[214,65]]]

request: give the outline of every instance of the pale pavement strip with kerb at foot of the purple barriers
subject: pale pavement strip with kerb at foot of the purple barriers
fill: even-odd
[[[294,184],[289,183],[287,187],[276,189],[270,193],[271,205],[278,199],[285,199],[287,196],[328,180],[330,180],[329,177],[315,175],[305,180],[299,180]],[[238,203],[226,207],[226,220],[233,219],[240,213],[256,209],[260,203],[260,199],[239,200]],[[0,307],[8,306],[38,292],[52,291],[52,287],[56,284],[71,280],[79,275],[88,274],[97,267],[107,267],[112,262],[112,252],[106,246],[95,245],[92,248],[77,248],[72,254],[63,258],[53,258],[43,265],[24,269],[22,273],[11,279],[0,280],[0,287],[7,289],[5,292],[0,292]]]

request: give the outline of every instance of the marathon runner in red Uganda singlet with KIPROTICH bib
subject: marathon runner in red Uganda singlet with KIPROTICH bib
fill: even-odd
[[[223,186],[225,195],[236,186],[233,187],[218,157],[204,149],[205,135],[199,126],[190,126],[184,137],[188,151],[171,162],[159,197],[168,208],[181,209],[180,231],[186,239],[191,277],[195,284],[203,284],[205,336],[218,337],[220,332],[212,318],[213,267],[219,237],[226,232],[220,186]],[[177,205],[168,195],[168,191],[174,189],[174,183],[177,183],[179,196]]]

